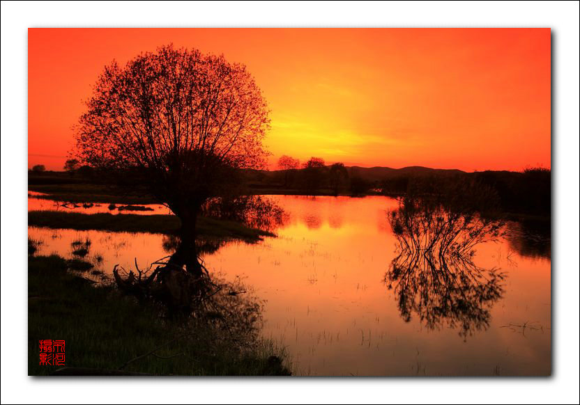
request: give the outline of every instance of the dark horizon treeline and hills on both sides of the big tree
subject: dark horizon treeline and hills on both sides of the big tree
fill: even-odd
[[[298,194],[305,196],[367,196],[383,195],[402,197],[440,193],[448,184],[468,184],[469,189],[484,189],[489,202],[503,214],[524,214],[549,218],[551,213],[551,170],[529,167],[521,172],[485,170],[466,173],[461,170],[432,169],[412,166],[401,169],[388,167],[363,168],[344,166],[342,163],[326,165],[319,157],[304,164],[298,159],[282,156],[279,170],[241,170],[240,181],[247,193]],[[29,173],[30,184],[59,184],[91,182],[106,184],[109,175],[98,173],[69,159],[64,166],[67,173],[47,172],[36,165]],[[139,173],[119,173],[125,186],[140,188]],[[118,181],[117,181],[118,183]],[[469,200],[474,198],[461,196]]]

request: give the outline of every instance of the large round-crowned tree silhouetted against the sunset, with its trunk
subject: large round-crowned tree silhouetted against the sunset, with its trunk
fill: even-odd
[[[75,137],[84,164],[142,173],[181,219],[183,250],[171,259],[201,276],[201,206],[231,188],[237,169],[265,166],[268,127],[266,101],[244,65],[169,45],[106,66]]]

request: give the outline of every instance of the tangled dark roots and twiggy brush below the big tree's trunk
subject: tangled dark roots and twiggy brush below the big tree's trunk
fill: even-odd
[[[240,352],[259,349],[264,299],[240,277],[225,280],[210,275],[203,264],[204,275],[194,277],[183,262],[184,255],[211,253],[223,242],[199,239],[190,254],[184,253],[190,246],[179,237],[164,237],[162,244],[171,254],[147,268],[139,268],[137,259],[132,269],[115,266],[113,276],[119,289],[144,303],[158,304],[166,317],[210,324],[211,335],[205,339],[225,340],[227,346]]]

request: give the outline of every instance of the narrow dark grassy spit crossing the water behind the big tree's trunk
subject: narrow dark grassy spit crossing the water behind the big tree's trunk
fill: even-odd
[[[53,229],[109,230],[115,232],[150,232],[174,234],[181,227],[181,221],[174,215],[137,214],[81,214],[79,212],[30,211],[28,223]],[[200,237],[222,239],[242,239],[258,241],[272,233],[233,222],[200,216],[197,221]]]

